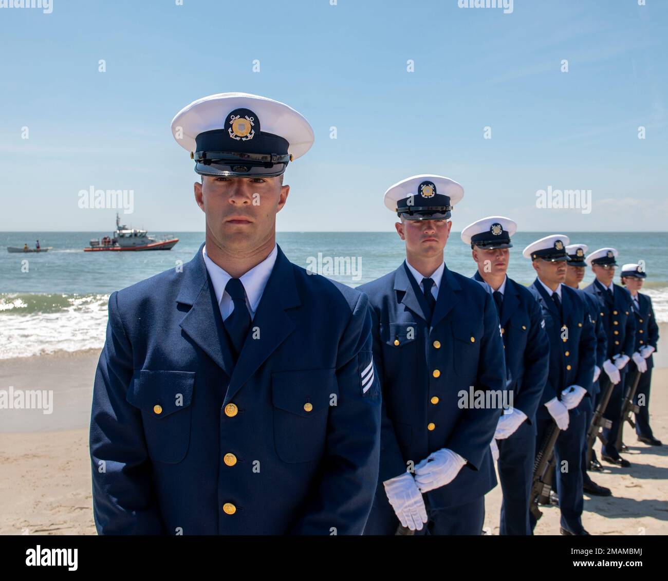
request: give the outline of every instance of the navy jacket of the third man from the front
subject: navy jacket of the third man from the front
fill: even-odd
[[[473,278],[484,282],[477,271]],[[500,323],[506,355],[506,376],[510,379],[508,391],[513,394],[513,407],[524,412],[528,423],[533,423],[547,381],[550,343],[536,297],[526,286],[508,277]]]

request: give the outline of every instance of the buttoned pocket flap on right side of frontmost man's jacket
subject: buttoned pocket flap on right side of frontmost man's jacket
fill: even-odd
[[[271,399],[275,407],[311,417],[329,409],[332,395],[339,396],[335,369],[275,371],[271,374]]]

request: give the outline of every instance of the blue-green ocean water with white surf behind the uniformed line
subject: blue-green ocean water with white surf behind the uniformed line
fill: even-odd
[[[530,284],[534,270],[522,250],[552,233],[515,234],[508,276]],[[91,238],[104,233],[0,232],[0,359],[102,348],[110,293],[174,268],[179,261],[188,262],[204,241],[203,232],[150,234],[174,234],[179,242],[172,250],[83,252]],[[7,252],[7,246],[22,247],[26,242],[34,247],[37,238],[43,248],[53,249],[40,254]],[[570,238],[588,244],[590,250],[614,246],[620,265],[645,260],[643,292],[652,297],[657,319],[668,321],[667,233],[579,232]],[[405,257],[395,232],[278,232],[277,242],[295,264],[350,286],[394,270]],[[446,246],[446,264],[467,276],[475,272],[470,248],[458,232],[451,234]],[[583,284],[591,280],[587,268]]]

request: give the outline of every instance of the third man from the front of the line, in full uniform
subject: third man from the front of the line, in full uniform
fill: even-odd
[[[547,381],[550,344],[542,310],[534,295],[508,278],[511,236],[517,224],[488,216],[462,230],[478,270],[472,278],[486,283],[498,311],[512,408],[501,415],[494,433],[503,492],[499,532],[530,535],[529,504],[536,456],[536,410]]]

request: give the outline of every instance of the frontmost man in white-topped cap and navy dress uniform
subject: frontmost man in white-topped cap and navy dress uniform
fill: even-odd
[[[361,534],[379,461],[371,315],[275,242],[295,110],[200,99],[172,132],[196,160],[206,242],[112,293],[90,453],[100,534]]]

